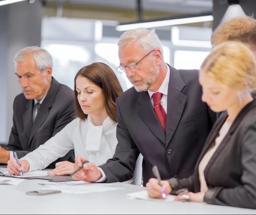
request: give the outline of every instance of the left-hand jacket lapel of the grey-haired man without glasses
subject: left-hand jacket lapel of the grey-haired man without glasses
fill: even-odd
[[[26,110],[22,114],[22,121],[23,121],[23,124],[24,124],[24,130],[25,130],[25,133],[26,133],[28,138],[30,136],[30,131],[31,131],[32,124],[33,124],[33,120],[32,120],[33,105],[34,105],[33,100],[28,100],[26,105],[25,105]]]

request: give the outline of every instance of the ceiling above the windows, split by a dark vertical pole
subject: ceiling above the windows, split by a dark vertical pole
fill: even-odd
[[[133,22],[137,0],[46,0],[46,16]],[[213,0],[141,0],[141,19],[211,13]]]

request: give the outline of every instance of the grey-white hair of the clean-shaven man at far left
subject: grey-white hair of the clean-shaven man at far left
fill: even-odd
[[[49,52],[37,46],[29,46],[19,50],[15,54],[13,59],[15,69],[18,62],[25,61],[31,54],[33,54],[37,69],[41,72],[44,72],[48,66],[53,68],[53,59]]]

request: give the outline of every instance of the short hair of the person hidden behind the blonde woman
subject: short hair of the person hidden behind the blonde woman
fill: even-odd
[[[213,45],[224,41],[241,41],[256,49],[256,20],[250,16],[229,19],[218,26],[211,37]]]

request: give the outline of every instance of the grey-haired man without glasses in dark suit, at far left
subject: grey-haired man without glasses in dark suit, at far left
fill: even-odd
[[[18,158],[35,150],[74,119],[74,92],[52,77],[53,61],[46,50],[25,47],[14,57],[15,74],[22,93],[13,104],[13,127],[8,144],[0,146],[0,162],[7,163],[16,152]],[[65,155],[65,156],[64,156]],[[52,160],[74,162],[74,151]]]

